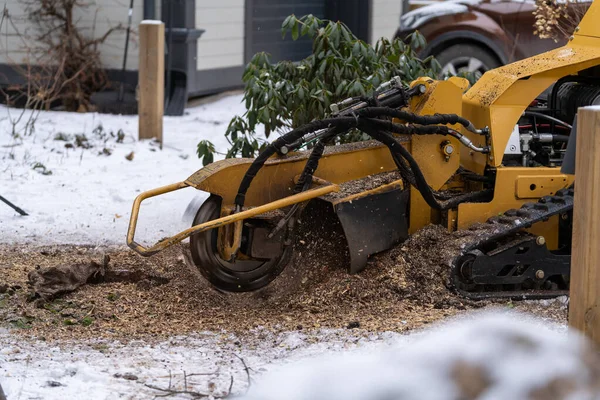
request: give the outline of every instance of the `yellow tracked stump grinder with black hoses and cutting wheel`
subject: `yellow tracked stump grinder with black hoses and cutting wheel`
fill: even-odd
[[[561,48],[465,79],[399,79],[281,135],[255,159],[226,159],[134,204],[128,245],[143,256],[190,238],[215,287],[252,291],[290,262],[294,235],[328,212],[349,272],[428,224],[464,230],[449,282],[461,295],[541,298],[569,289],[578,107],[600,104],[600,1]],[[467,90],[468,89],[468,90]],[[352,130],[372,140],[334,145]],[[309,151],[298,151],[307,142]],[[134,240],[143,200],[210,193],[192,227],[151,247]],[[326,219],[323,219],[325,224]],[[435,251],[435,249],[432,249]]]

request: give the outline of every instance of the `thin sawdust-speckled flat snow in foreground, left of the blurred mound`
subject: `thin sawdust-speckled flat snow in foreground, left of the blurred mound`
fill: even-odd
[[[0,336],[0,383],[12,399],[148,399],[160,391],[152,385],[189,391],[244,393],[248,375],[256,377],[273,365],[306,359],[324,352],[372,348],[402,343],[400,334],[353,334],[352,331],[323,330],[312,333],[273,334],[257,329],[244,337],[205,332],[175,337],[156,344],[65,343],[61,347],[45,342],[23,343]],[[136,380],[115,377],[135,375]],[[204,375],[194,375],[204,374]],[[54,383],[55,382],[55,383]],[[60,385],[60,386],[58,386]],[[174,398],[189,398],[181,395]]]

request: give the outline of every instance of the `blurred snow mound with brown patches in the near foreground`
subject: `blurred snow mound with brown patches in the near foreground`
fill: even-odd
[[[320,356],[272,372],[248,400],[596,399],[600,358],[560,326],[486,313],[409,346]]]

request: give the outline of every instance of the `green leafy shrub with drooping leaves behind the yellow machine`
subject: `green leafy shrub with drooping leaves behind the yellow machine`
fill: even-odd
[[[299,62],[271,63],[269,54],[257,53],[246,66],[244,102],[246,112],[234,117],[225,136],[231,147],[226,157],[254,157],[267,142],[257,134],[264,126],[268,138],[325,117],[329,106],[353,96],[369,96],[383,82],[400,76],[406,83],[421,76],[437,77],[439,63],[428,57],[420,60],[415,49],[425,39],[415,32],[407,43],[382,38],[369,45],[359,40],[342,22],[321,20],[313,15],[283,21],[282,35],[312,39],[312,54]],[[348,136],[346,136],[348,138]],[[361,140],[351,135],[349,140]],[[203,140],[198,157],[207,165],[213,161],[214,146]]]

